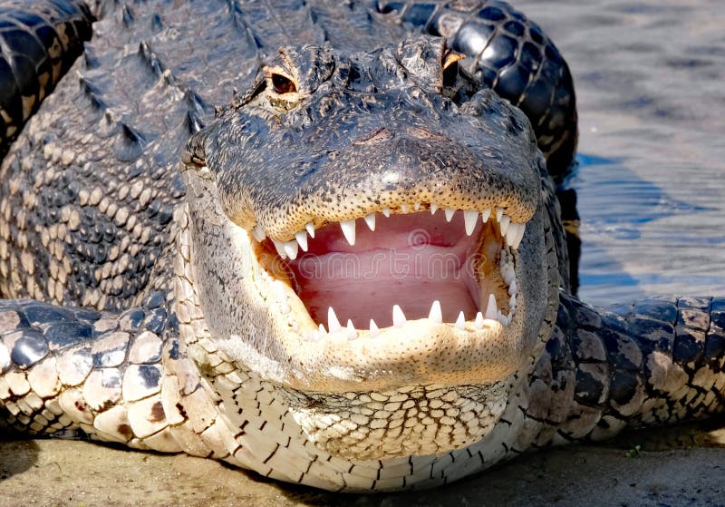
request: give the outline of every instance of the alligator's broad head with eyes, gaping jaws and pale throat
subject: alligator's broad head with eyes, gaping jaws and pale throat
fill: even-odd
[[[526,116],[458,58],[425,37],[287,48],[184,155],[187,276],[215,345],[329,453],[480,440],[556,315],[545,161]],[[354,422],[375,411],[378,426]],[[420,438],[421,414],[448,436]]]

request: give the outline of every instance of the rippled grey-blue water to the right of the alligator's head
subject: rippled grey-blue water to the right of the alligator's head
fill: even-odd
[[[580,296],[725,295],[725,3],[514,5],[575,78]]]

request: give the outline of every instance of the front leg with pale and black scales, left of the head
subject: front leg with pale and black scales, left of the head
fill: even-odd
[[[180,451],[161,399],[162,351],[173,356],[164,303],[154,293],[113,315],[0,301],[0,418],[30,434]]]

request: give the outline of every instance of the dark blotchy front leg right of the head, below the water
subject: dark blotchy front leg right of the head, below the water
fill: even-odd
[[[555,443],[701,419],[725,407],[723,370],[725,297],[652,297],[597,313],[562,295],[526,416]]]

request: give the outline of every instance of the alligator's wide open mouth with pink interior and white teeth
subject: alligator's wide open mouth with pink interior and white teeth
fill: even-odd
[[[354,339],[420,319],[461,331],[507,327],[525,228],[502,209],[416,203],[319,229],[310,222],[289,241],[259,227],[252,236],[280,313],[294,291],[314,322],[299,327],[304,337]]]

